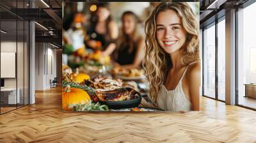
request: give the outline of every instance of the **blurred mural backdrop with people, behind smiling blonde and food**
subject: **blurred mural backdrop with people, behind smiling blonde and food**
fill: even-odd
[[[109,56],[101,63],[108,63],[111,59],[123,68],[141,67],[144,55],[140,49],[145,46],[143,23],[159,2],[64,4],[63,64],[68,64],[72,69],[77,68],[83,63],[84,57],[88,56],[88,52],[99,50],[100,52],[95,53],[100,53],[100,57]],[[200,3],[188,4],[194,11],[199,25]],[[128,15],[126,18],[124,13]],[[81,58],[70,56],[71,51]],[[138,51],[140,54],[137,54]]]

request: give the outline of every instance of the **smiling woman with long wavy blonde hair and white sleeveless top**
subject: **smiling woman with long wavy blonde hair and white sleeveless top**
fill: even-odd
[[[198,23],[187,3],[161,3],[145,22],[143,66],[160,109],[199,110]]]

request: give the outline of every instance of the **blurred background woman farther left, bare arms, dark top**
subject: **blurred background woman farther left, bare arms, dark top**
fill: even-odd
[[[97,5],[97,19],[92,21],[88,34],[90,40],[88,47],[95,50],[102,50],[102,56],[109,56],[116,49],[115,40],[118,37],[118,26],[111,18],[108,3]]]

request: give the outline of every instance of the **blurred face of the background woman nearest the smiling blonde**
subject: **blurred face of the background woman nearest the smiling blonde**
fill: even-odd
[[[123,18],[123,28],[125,34],[132,34],[136,26],[136,21],[132,15],[124,15]]]

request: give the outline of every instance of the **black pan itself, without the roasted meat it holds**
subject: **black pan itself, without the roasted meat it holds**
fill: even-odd
[[[125,87],[127,91],[131,91],[134,89],[131,89],[129,87]],[[138,93],[138,91],[134,90],[134,94],[138,94],[139,97],[135,98],[134,100],[125,100],[125,101],[118,101],[118,102],[100,102],[100,104],[107,105],[109,109],[127,109],[127,108],[133,108],[138,107],[141,103],[141,94]]]

